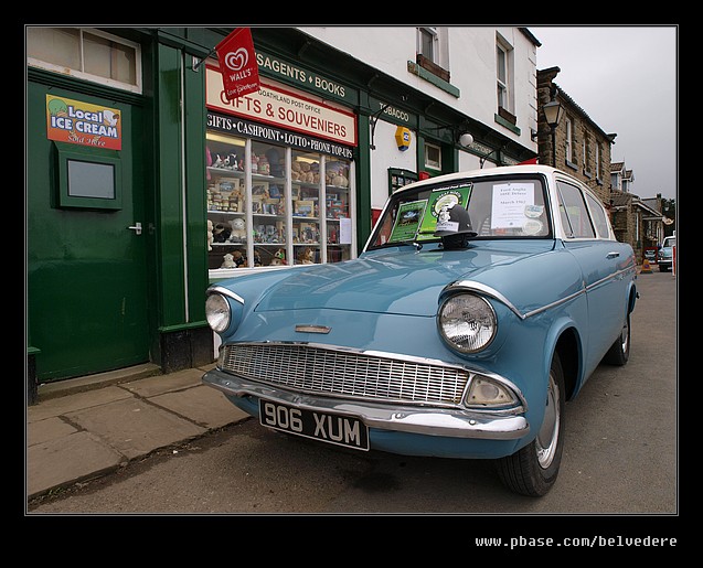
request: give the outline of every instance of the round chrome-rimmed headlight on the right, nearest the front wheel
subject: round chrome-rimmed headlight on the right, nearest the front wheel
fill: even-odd
[[[486,349],[498,331],[492,306],[472,293],[447,298],[439,308],[437,325],[444,340],[461,353]]]

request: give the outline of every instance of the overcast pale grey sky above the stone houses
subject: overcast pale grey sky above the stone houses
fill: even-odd
[[[529,30],[542,43],[537,68],[600,127],[617,133],[614,162],[635,174],[640,197],[677,197],[678,28],[569,26]]]

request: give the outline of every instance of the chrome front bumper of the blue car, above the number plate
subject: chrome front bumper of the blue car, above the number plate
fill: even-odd
[[[294,393],[216,368],[205,373],[203,384],[222,390],[228,397],[266,398],[312,411],[352,416],[360,418],[370,428],[387,431],[487,440],[514,440],[523,438],[530,431],[528,420],[521,415],[499,410],[471,411],[390,405]]]

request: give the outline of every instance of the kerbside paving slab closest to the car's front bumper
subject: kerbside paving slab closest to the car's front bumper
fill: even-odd
[[[153,396],[149,401],[205,428],[222,428],[249,416],[230,403],[222,393],[202,384],[187,390]]]

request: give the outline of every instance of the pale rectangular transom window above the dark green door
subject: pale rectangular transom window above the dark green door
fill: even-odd
[[[83,28],[26,28],[28,63],[56,73],[141,93],[138,44]]]

